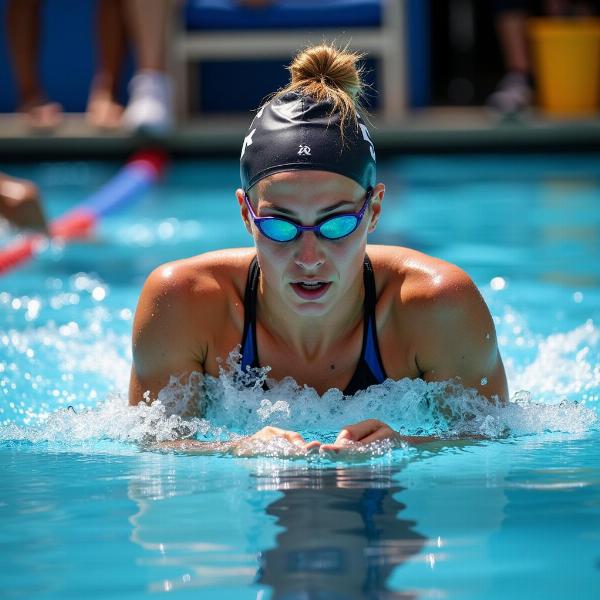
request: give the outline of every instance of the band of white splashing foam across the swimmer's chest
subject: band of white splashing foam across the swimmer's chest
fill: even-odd
[[[302,433],[307,440],[331,442],[344,426],[365,418],[380,419],[407,436],[444,439],[486,438],[544,432],[580,433],[597,422],[596,413],[582,403],[535,402],[527,392],[501,406],[466,390],[458,382],[388,380],[355,396],[339,390],[322,396],[291,378],[262,387],[268,369],[242,373],[239,354],[232,353],[218,378],[192,374],[187,381],[172,378],[150,405],[127,405],[124,394],[111,396],[95,408],[61,409],[35,425],[10,423],[0,427],[0,441],[52,442],[67,446],[95,440],[114,440],[156,448],[181,438],[204,441],[239,440],[271,425]],[[251,381],[249,381],[251,379]],[[250,386],[248,386],[250,383]],[[152,401],[151,398],[147,398]],[[178,413],[199,405],[204,418]],[[355,454],[381,456],[389,444],[355,448]],[[282,440],[253,442],[237,454],[267,456],[302,454]]]

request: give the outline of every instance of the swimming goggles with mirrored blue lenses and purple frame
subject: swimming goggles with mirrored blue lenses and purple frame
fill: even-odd
[[[369,206],[373,190],[369,188],[362,208],[357,213],[343,213],[329,217],[317,225],[298,225],[282,217],[259,217],[250,204],[248,194],[244,194],[244,201],[258,230],[274,242],[291,242],[298,239],[303,231],[314,231],[319,237],[326,240],[339,240],[356,231],[357,227]]]

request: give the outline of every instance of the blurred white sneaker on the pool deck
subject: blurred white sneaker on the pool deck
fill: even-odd
[[[171,79],[161,71],[138,71],[129,82],[123,125],[130,131],[166,133],[173,126]]]

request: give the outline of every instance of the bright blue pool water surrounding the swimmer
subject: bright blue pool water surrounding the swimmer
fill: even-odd
[[[343,400],[290,382],[241,391],[224,374],[206,419],[187,425],[207,439],[265,424],[330,439],[377,417],[447,438],[427,447],[337,462],[285,447],[261,458],[153,449],[183,425],[161,406],[126,406],[137,296],[164,261],[248,244],[234,161],[172,165],[93,238],[0,279],[3,597],[600,597],[599,158],[380,169],[388,194],[372,242],[470,273],[496,322],[508,407],[457,390],[450,418],[426,407],[419,381]],[[40,185],[52,216],[117,168],[3,167]],[[0,229],[2,244],[13,236]]]

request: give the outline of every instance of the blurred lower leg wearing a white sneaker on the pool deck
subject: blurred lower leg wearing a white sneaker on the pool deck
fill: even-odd
[[[124,122],[130,129],[163,132],[173,122],[171,81],[166,73],[166,43],[171,0],[125,0],[134,45],[136,74]]]

